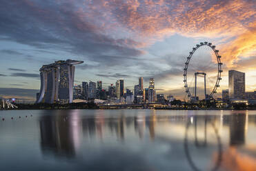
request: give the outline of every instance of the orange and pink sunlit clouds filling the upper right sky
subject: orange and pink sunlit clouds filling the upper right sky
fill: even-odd
[[[186,37],[222,38],[223,59],[228,66],[255,50],[253,1],[109,1],[104,4],[120,28],[136,34],[149,46],[174,33]],[[132,34],[132,35],[133,35]],[[230,41],[234,38],[234,41]],[[140,46],[141,47],[141,46]]]

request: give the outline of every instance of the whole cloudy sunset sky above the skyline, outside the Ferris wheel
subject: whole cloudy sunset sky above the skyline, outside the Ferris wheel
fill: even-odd
[[[221,54],[219,92],[230,69],[256,90],[255,9],[255,0],[1,1],[0,96],[35,98],[42,65],[77,59],[75,83],[124,79],[132,88],[154,77],[157,92],[182,99],[184,62],[201,41]]]

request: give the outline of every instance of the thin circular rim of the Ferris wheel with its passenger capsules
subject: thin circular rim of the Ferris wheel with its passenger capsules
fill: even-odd
[[[193,48],[193,50],[191,52],[189,52],[189,56],[187,57],[187,60],[185,62],[185,68],[184,68],[184,88],[186,88],[186,94],[188,95],[188,97],[192,97],[190,90],[188,89],[188,82],[187,82],[187,73],[188,73],[188,65],[190,62],[190,59],[193,57],[193,54],[195,53],[195,51],[200,48],[201,46],[208,46],[210,47],[213,52],[215,52],[215,57],[217,59],[217,64],[218,64],[218,72],[217,72],[217,80],[215,82],[215,86],[213,88],[213,90],[210,92],[209,97],[213,97],[213,94],[217,93],[217,88],[219,88],[219,82],[221,80],[221,72],[223,72],[221,66],[223,65],[223,63],[221,63],[221,56],[219,55],[219,50],[215,49],[216,46],[214,46],[212,43],[208,43],[207,41],[205,41],[204,43],[201,42],[199,44],[196,45],[195,48]]]

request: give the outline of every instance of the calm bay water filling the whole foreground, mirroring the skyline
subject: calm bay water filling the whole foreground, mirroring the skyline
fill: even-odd
[[[0,119],[0,170],[256,170],[256,111],[12,110]]]

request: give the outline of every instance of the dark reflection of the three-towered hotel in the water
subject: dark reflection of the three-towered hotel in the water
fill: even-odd
[[[47,111],[39,122],[44,154],[54,152],[59,156],[75,157],[81,129],[76,112],[70,115],[66,110]]]

